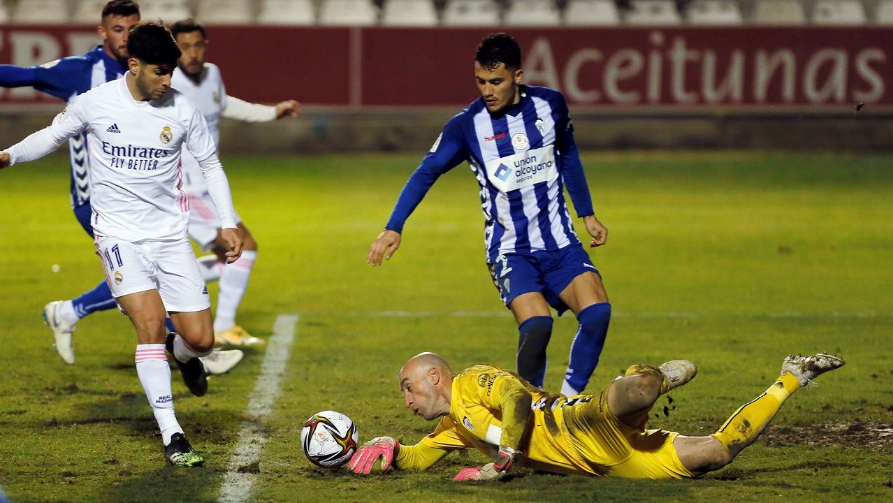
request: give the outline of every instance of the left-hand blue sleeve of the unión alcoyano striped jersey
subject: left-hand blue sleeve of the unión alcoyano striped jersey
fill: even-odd
[[[396,200],[385,229],[403,232],[403,226],[415,207],[421,203],[431,185],[445,172],[450,171],[468,158],[468,148],[463,137],[463,123],[467,119],[459,113],[447,122],[428,155],[421,160]]]

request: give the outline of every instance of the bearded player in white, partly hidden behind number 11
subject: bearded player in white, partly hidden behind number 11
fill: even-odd
[[[228,96],[220,69],[204,60],[208,40],[201,23],[191,19],[177,21],[171,25],[171,33],[182,52],[178,68],[171,78],[171,86],[188,96],[204,114],[216,145],[220,145],[221,116],[244,122],[270,122],[297,115],[300,105],[295,100],[268,106],[246,103]],[[183,152],[183,190],[189,197],[189,236],[203,250],[214,254],[198,259],[204,281],[220,280],[214,315],[215,340],[235,346],[262,344],[263,339],[253,337],[236,323],[236,311],[245,295],[257,258],[257,242],[236,214],[239,236],[243,242],[242,256],[235,263],[224,266],[226,242],[221,239],[220,215],[195,157],[186,151]]]

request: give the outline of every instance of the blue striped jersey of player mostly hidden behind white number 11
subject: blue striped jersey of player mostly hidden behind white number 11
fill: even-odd
[[[0,64],[0,86],[29,86],[66,102],[100,84],[121,78],[127,69],[117,59],[96,46],[82,56],[71,56],[54,62],[22,68]],[[90,202],[90,180],[87,170],[87,135],[76,135],[69,141],[71,153],[71,206]]]

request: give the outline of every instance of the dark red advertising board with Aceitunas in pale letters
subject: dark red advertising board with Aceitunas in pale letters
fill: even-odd
[[[233,96],[305,104],[465,105],[472,58],[489,30],[212,27],[209,58]],[[525,81],[561,90],[571,105],[893,107],[893,29],[726,27],[512,29]],[[0,63],[82,54],[90,28],[6,26]],[[40,98],[0,89],[0,104]]]

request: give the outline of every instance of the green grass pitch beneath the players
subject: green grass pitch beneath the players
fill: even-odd
[[[590,251],[614,316],[588,390],[633,363],[689,358],[695,381],[662,398],[652,425],[708,434],[777,377],[789,352],[847,365],[797,392],[734,464],[700,481],[531,474],[459,485],[480,465],[452,455],[426,473],[360,478],[310,465],[308,415],[350,415],[361,440],[412,443],[434,423],[402,407],[396,373],[432,350],[455,369],[513,368],[517,332],[483,264],[482,217],[467,166],[447,173],[381,268],[365,264],[418,155],[224,155],[260,253],[239,323],[267,338],[299,321],[252,501],[889,501],[893,499],[893,162],[889,154],[622,152],[583,155],[608,244]],[[215,376],[204,398],[174,371],[180,422],[204,468],[165,465],[133,366],[127,318],[95,314],[64,365],[40,319],[102,277],[71,215],[63,155],[0,172],[0,485],[24,501],[218,498],[263,348]],[[582,228],[578,226],[578,230]],[[58,272],[53,265],[58,264]],[[211,285],[212,294],[216,287]],[[547,388],[573,331],[555,324]],[[664,407],[666,407],[664,409]],[[665,410],[665,413],[664,413]],[[884,436],[886,435],[886,436]]]

